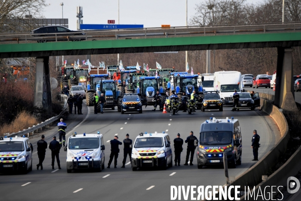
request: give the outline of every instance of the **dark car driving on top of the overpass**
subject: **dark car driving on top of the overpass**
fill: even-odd
[[[84,36],[85,33],[83,31],[72,31],[63,26],[45,26],[35,29],[30,32],[32,37],[48,37],[52,36],[51,39],[39,39],[38,43],[46,43],[48,41],[56,41],[55,34],[57,35],[57,41],[66,41],[68,40],[67,36]],[[65,36],[64,38],[61,38]],[[84,38],[72,38],[72,41],[81,41],[85,40]]]

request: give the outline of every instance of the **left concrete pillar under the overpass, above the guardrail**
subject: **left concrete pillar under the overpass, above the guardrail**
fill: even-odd
[[[36,80],[34,105],[52,111],[49,57],[36,58]]]

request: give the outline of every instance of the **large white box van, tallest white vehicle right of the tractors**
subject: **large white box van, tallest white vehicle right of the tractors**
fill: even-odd
[[[234,90],[241,91],[241,73],[238,71],[218,71],[214,73],[214,90],[220,93],[223,105],[232,105]]]

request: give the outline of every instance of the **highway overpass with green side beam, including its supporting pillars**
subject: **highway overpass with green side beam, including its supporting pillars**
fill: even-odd
[[[73,42],[79,37],[84,41]],[[38,39],[53,42],[37,43]],[[63,39],[67,41],[60,42]],[[43,80],[44,88],[51,91],[49,56],[276,47],[274,103],[283,110],[295,111],[291,54],[295,46],[301,46],[301,23],[89,31],[83,36],[16,33],[0,35],[0,58],[37,57],[35,105],[41,107]]]

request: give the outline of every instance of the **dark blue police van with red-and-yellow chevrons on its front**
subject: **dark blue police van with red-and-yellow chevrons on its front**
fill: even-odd
[[[229,166],[233,168],[241,164],[241,129],[239,121],[210,118],[201,124],[200,139],[197,144],[198,168],[203,165],[224,164],[224,154]]]

